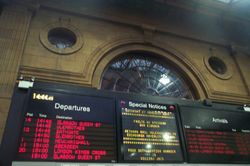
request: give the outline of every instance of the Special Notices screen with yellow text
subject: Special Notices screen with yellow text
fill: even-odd
[[[125,162],[183,161],[175,106],[128,100],[118,102]]]

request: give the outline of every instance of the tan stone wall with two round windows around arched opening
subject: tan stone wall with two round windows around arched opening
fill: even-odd
[[[170,19],[171,12],[164,19],[157,13],[145,15],[83,1],[32,3],[39,6],[33,17],[27,10],[30,4],[24,3],[5,7],[0,19],[0,137],[18,73],[41,81],[100,88],[107,64],[128,51],[155,53],[176,65],[195,86],[201,100],[250,103],[249,50],[237,43],[233,50],[229,48],[232,41],[227,33],[219,33],[223,28],[214,17],[204,16],[212,23],[210,29],[202,26],[202,20],[189,22],[181,17],[180,21],[174,13],[176,20]],[[65,52],[54,49],[47,35],[55,27],[75,32],[77,47]],[[227,65],[225,75],[211,70],[207,63],[211,56]]]

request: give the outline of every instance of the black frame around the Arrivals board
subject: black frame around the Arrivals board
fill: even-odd
[[[187,136],[186,136],[186,133],[185,133],[185,127],[184,127],[184,124],[183,124],[183,116],[181,115],[183,109],[185,108],[189,108],[189,109],[192,109],[193,110],[197,110],[197,109],[202,109],[202,111],[218,111],[218,112],[234,112],[234,113],[241,113],[241,114],[249,114],[249,112],[244,112],[244,111],[236,111],[236,110],[227,110],[227,109],[223,109],[223,107],[221,107],[221,109],[219,108],[209,108],[209,107],[204,107],[204,106],[200,106],[200,107],[192,107],[190,105],[183,105],[183,106],[179,106],[179,114],[180,114],[180,122],[181,122],[181,126],[182,126],[182,134],[183,134],[183,141],[184,141],[184,146],[185,146],[185,153],[186,154],[186,161],[188,163],[194,163],[194,164],[249,164],[250,163],[250,159],[248,161],[244,161],[244,162],[237,162],[237,161],[208,161],[207,162],[202,162],[202,161],[190,161],[190,154],[188,152],[188,149],[187,149]],[[187,110],[184,110],[184,111],[187,111]]]

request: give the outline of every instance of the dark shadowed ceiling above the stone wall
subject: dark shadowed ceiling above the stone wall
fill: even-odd
[[[0,0],[21,4],[58,7],[58,0]],[[227,1],[227,3],[221,2]],[[181,34],[223,45],[249,47],[250,0],[60,0],[71,12],[86,10],[110,20],[157,27],[159,31]],[[74,3],[73,3],[74,2]],[[52,6],[51,6],[52,5]],[[112,7],[110,7],[112,6]],[[117,12],[114,15],[112,10]],[[127,20],[126,20],[127,19]],[[119,20],[119,19],[118,19]],[[182,33],[185,34],[182,34]],[[188,34],[188,35],[187,35]]]

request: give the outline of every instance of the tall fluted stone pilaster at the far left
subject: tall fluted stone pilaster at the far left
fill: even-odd
[[[0,141],[18,75],[32,12],[5,6],[0,16]]]

